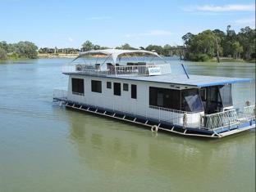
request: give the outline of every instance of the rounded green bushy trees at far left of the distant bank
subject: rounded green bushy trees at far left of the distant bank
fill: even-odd
[[[29,58],[38,56],[38,47],[33,42],[7,43],[0,42],[0,60]]]

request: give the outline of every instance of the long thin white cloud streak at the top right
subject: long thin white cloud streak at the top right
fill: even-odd
[[[213,11],[213,12],[224,12],[224,11],[255,11],[255,4],[231,4],[224,6],[214,5],[203,5],[203,6],[190,6],[183,7],[183,11]]]

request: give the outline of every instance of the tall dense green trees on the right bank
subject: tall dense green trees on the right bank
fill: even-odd
[[[226,32],[220,29],[205,30],[198,34],[186,33],[184,41],[184,59],[205,61],[214,56],[232,57],[234,59],[255,60],[255,29],[245,27],[239,33],[226,27]]]

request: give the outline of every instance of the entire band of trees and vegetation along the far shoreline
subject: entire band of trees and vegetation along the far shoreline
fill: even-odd
[[[245,27],[239,33],[228,25],[226,32],[220,29],[205,30],[198,34],[186,33],[183,45],[131,47],[128,43],[116,49],[155,51],[161,56],[179,56],[181,60],[208,62],[255,62],[256,30]],[[20,60],[37,58],[74,58],[80,51],[107,49],[86,41],[77,48],[37,47],[34,42],[0,42],[0,60]]]

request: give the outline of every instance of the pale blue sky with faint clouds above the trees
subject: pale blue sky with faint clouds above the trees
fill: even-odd
[[[0,0],[0,41],[38,47],[182,45],[185,33],[255,28],[254,0]]]

